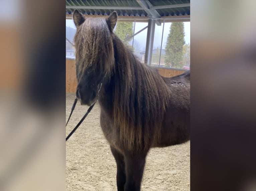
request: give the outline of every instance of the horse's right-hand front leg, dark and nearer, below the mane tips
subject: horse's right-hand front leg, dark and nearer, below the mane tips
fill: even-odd
[[[146,155],[125,156],[126,183],[124,191],[140,191]]]

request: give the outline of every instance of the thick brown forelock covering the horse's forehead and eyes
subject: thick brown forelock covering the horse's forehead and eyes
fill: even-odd
[[[114,65],[112,34],[105,19],[88,18],[77,28],[74,38],[77,72],[111,73]]]

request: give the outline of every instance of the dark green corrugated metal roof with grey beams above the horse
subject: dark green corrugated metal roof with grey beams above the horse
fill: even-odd
[[[78,9],[84,15],[109,15],[116,11],[118,16],[171,17],[189,16],[190,0],[66,0],[66,14]]]

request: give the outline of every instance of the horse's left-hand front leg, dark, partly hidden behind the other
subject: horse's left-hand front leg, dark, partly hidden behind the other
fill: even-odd
[[[126,182],[126,174],[125,174],[125,162],[124,156],[118,150],[110,146],[111,152],[116,160],[117,165],[117,174],[116,174],[116,182],[117,182],[117,191],[124,191],[124,185]]]

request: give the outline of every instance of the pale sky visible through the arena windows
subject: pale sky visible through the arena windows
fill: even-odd
[[[165,23],[164,24],[164,32],[163,32],[163,43],[162,43],[162,49],[164,49],[166,40],[169,34],[170,30],[170,25],[171,23]],[[73,20],[68,20],[66,19],[66,26],[72,27],[76,29],[76,26],[73,22]],[[147,23],[136,23],[135,24],[135,33],[138,32],[139,30],[143,29],[144,27],[147,26]],[[155,26],[155,36],[154,36],[154,45],[153,48],[156,49],[157,47],[160,48],[161,46],[161,38],[162,38],[162,30],[163,30],[163,24],[161,26]],[[185,32],[185,43],[188,44],[190,43],[190,22],[184,22],[184,32]],[[139,33],[134,37],[134,43],[136,43],[140,49],[144,49],[146,46],[146,38],[147,38],[147,29]],[[70,39],[73,40],[73,39]]]

